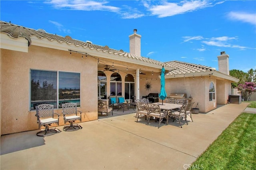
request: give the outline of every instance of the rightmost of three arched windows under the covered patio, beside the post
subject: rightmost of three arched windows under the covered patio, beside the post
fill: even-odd
[[[124,89],[124,98],[133,99],[134,96],[134,77],[131,74],[127,74],[125,77],[125,89]]]

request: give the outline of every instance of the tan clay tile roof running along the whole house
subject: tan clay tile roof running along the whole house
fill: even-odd
[[[79,41],[76,39],[72,39],[70,36],[62,37],[59,35],[47,33],[44,29],[38,29],[38,30],[30,29],[27,27],[22,27],[20,25],[15,25],[13,23],[8,23],[5,21],[0,21],[0,33],[5,33],[12,38],[24,37],[25,39],[28,40],[28,46],[31,45],[31,43],[32,43],[31,36],[34,35],[38,39],[46,38],[49,41],[55,40],[55,41],[58,41],[59,43],[75,45],[76,47],[82,46],[83,48],[89,48],[91,50],[96,49],[97,51],[114,54],[115,56],[128,57],[129,59],[136,59],[136,60],[140,60],[143,62],[156,64],[158,66],[165,66],[167,68],[170,68],[170,70],[171,70],[170,72],[168,72],[166,74],[166,76],[168,76],[168,75],[170,76],[170,75],[174,75],[174,74],[175,75],[177,75],[177,74],[192,75],[194,73],[203,74],[206,72],[213,71],[213,72],[217,72],[218,74],[223,74],[226,77],[228,76],[228,78],[229,77],[234,78],[232,76],[229,76],[228,74],[224,74],[222,72],[217,71],[215,68],[203,66],[200,64],[185,63],[185,62],[180,62],[180,61],[170,61],[170,62],[163,63],[163,62],[149,59],[146,57],[132,55],[128,52],[124,52],[123,50],[110,49],[108,46],[95,45],[95,44],[92,44],[90,41],[86,41],[86,42]]]

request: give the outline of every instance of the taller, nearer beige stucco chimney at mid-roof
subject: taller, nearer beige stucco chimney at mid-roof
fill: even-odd
[[[130,38],[130,54],[141,56],[140,54],[140,39],[141,35],[137,34],[137,29],[133,30],[133,34],[129,35]]]

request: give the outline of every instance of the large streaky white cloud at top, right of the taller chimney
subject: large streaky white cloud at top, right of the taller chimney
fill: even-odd
[[[144,2],[144,7],[151,12],[152,15],[158,16],[158,18],[174,16],[178,14],[184,14],[186,12],[193,12],[202,8],[214,6],[210,1],[195,0],[195,1],[180,1],[180,2],[166,2],[159,1],[160,5],[150,5],[148,1]],[[220,3],[216,3],[220,4]]]

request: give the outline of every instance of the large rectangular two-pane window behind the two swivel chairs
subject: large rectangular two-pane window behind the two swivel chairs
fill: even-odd
[[[30,110],[40,103],[57,108],[63,102],[80,106],[80,73],[30,70]]]

